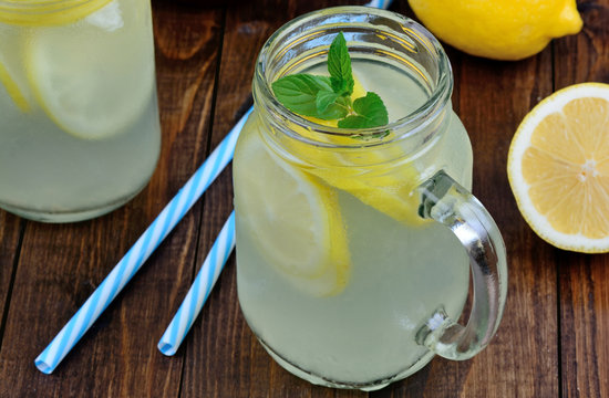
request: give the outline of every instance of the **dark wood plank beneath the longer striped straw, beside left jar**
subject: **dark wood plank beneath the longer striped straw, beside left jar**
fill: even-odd
[[[53,375],[33,366],[207,150],[223,13],[167,2],[155,4],[154,17],[163,129],[157,170],[137,198],[106,217],[63,226],[28,223],[0,353],[2,397],[178,395],[183,360],[164,357],[156,343],[190,283],[200,206]]]

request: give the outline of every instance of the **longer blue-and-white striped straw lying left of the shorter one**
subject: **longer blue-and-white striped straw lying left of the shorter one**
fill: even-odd
[[[97,286],[84,305],[72,316],[51,344],[35,358],[35,366],[45,374],[52,373],[70,349],[81,339],[84,333],[97,320],[100,314],[116,297],[125,284],[140,270],[152,252],[167,237],[177,222],[193,207],[207,187],[216,179],[226,165],[233,159],[235,144],[251,108],[233,127],[218,147],[190,177],[163,209],[153,223],[140,237],[137,242],[114,266],[110,274]]]

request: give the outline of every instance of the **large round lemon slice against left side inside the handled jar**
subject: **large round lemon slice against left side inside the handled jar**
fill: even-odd
[[[257,123],[257,122],[251,122]],[[239,143],[236,209],[268,263],[313,296],[340,293],[349,280],[347,235],[336,191],[280,159],[255,126]]]

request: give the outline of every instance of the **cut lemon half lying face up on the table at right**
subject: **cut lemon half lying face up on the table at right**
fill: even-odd
[[[609,85],[560,90],[525,117],[507,174],[533,230],[557,248],[609,251]]]

